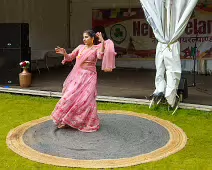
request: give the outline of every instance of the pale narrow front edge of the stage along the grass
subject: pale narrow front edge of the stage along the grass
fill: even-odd
[[[0,92],[26,94],[26,95],[34,95],[34,96],[45,96],[45,97],[58,97],[58,98],[62,96],[62,93],[60,92],[29,90],[29,89],[19,89],[19,88],[0,87]],[[149,104],[149,100],[146,100],[146,99],[112,97],[112,96],[97,96],[97,101],[114,102],[114,103],[145,104],[145,105]],[[196,109],[196,110],[202,110],[202,111],[212,111],[212,106],[189,104],[189,103],[180,103],[180,108]]]

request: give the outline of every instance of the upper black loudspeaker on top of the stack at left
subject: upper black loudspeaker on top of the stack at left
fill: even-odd
[[[28,23],[0,23],[0,48],[28,48]]]

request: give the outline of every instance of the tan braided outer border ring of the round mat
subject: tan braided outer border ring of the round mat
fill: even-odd
[[[150,116],[143,113],[141,114],[141,113],[129,112],[129,111],[99,110],[98,112],[105,113],[105,114],[123,114],[123,115],[129,115],[129,116],[136,116],[139,118],[144,118],[144,119],[154,121],[168,130],[170,135],[170,140],[165,146],[153,152],[138,155],[135,157],[130,157],[130,158],[102,159],[102,160],[76,160],[71,158],[51,156],[51,155],[40,153],[30,148],[23,142],[23,138],[22,138],[26,130],[29,129],[30,127],[33,127],[37,124],[50,120],[51,117],[48,116],[48,117],[44,117],[38,120],[33,120],[31,122],[25,123],[11,130],[8,133],[8,136],[6,138],[6,143],[12,151],[32,161],[36,161],[36,162],[40,162],[44,164],[56,165],[56,166],[81,167],[81,168],[118,168],[118,167],[134,166],[134,165],[152,162],[152,161],[158,161],[170,156],[171,154],[174,154],[180,151],[186,145],[186,142],[187,142],[186,134],[183,132],[181,128],[177,127],[176,125],[174,125],[173,123],[169,121],[160,119],[155,116]]]

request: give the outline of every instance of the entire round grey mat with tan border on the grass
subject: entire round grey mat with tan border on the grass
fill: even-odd
[[[10,149],[33,161],[68,167],[115,168],[165,158],[181,150],[185,133],[157,117],[127,111],[99,111],[101,128],[83,133],[57,129],[50,117],[11,130]]]

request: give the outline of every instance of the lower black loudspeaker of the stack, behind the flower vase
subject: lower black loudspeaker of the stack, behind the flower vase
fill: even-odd
[[[18,85],[21,72],[19,63],[25,60],[31,63],[30,56],[30,48],[0,49],[0,84]]]

